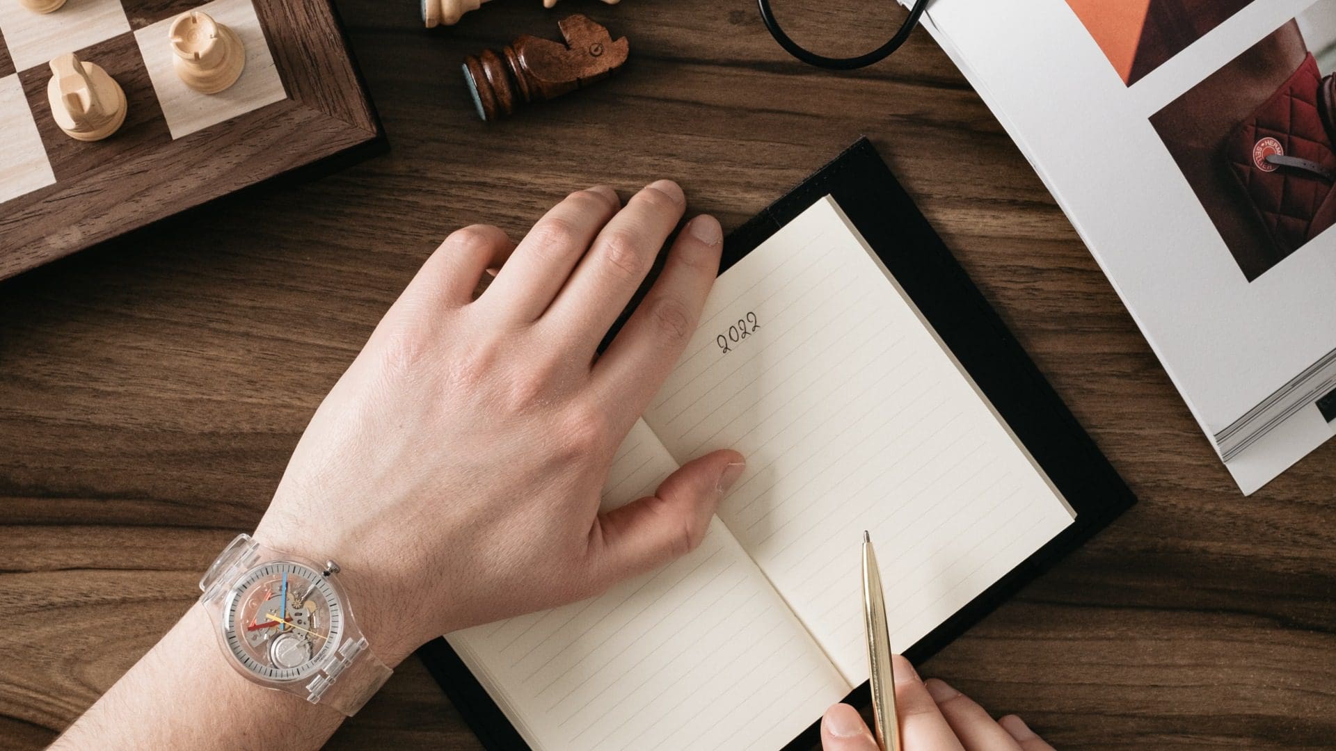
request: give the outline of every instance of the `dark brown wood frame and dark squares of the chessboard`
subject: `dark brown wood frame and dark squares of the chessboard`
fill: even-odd
[[[52,16],[77,4],[107,1],[68,0]],[[16,155],[17,147],[9,144],[7,166],[5,134],[0,132],[0,183],[17,179],[23,167],[13,164],[20,159],[43,170],[40,156],[55,179],[0,200],[0,279],[278,175],[301,175],[315,163],[342,166],[345,159],[385,147],[383,128],[331,0],[230,0],[253,5],[267,44],[262,52],[273,59],[282,91],[270,91],[267,103],[244,114],[175,138],[179,118],[170,127],[135,32],[190,9],[207,9],[207,4],[115,1],[124,8],[128,32],[80,49],[52,48],[47,55],[49,60],[75,52],[100,64],[124,88],[126,124],[102,142],[76,142],[60,131],[47,102],[48,65],[16,65],[0,25],[0,84],[8,83],[15,92],[11,76],[16,76],[45,150],[44,155],[33,148]],[[168,49],[166,33],[162,44]],[[31,49],[27,57],[32,57]],[[248,73],[243,72],[243,82]],[[156,83],[162,86],[162,80]],[[343,159],[331,159],[337,156]]]

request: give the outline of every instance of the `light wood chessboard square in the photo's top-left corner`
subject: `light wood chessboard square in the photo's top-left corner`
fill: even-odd
[[[67,0],[53,13],[33,13],[13,0],[0,3],[0,32],[19,71],[128,31],[120,0]]]

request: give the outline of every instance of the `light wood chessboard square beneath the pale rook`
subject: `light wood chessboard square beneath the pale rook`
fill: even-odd
[[[246,68],[231,88],[218,94],[200,94],[176,75],[175,55],[167,36],[174,19],[136,31],[135,40],[174,139],[287,99],[283,80],[265,40],[265,29],[250,0],[214,0],[195,9],[208,13],[240,36],[246,45]]]

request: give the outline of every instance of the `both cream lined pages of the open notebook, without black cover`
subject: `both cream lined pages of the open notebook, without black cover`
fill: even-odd
[[[691,555],[446,639],[534,750],[778,750],[867,680],[859,543],[919,643],[1078,517],[835,198],[720,274],[605,506],[713,449]]]

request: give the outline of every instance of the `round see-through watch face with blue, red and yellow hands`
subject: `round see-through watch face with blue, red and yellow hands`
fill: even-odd
[[[243,668],[269,680],[306,678],[342,632],[338,593],[321,572],[297,563],[250,569],[223,609],[227,648]]]

